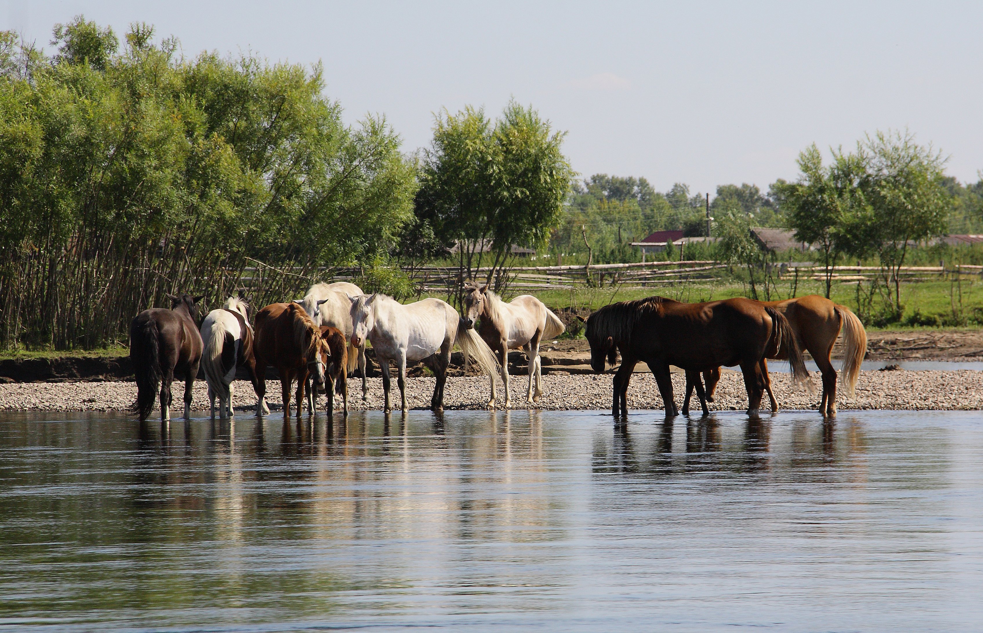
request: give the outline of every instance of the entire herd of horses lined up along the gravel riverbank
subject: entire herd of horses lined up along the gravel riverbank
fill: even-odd
[[[528,359],[526,400],[543,395],[540,343],[561,334],[565,327],[531,295],[504,302],[488,286],[467,283],[463,288],[464,315],[439,299],[401,304],[380,293],[365,294],[348,282],[318,283],[303,299],[266,306],[250,322],[250,307],[230,297],[224,307],[209,312],[199,326],[202,297],[167,295],[170,310],[153,308],[133,319],[130,357],[137,380],[134,412],[145,421],[159,399],[161,421],[170,419],[171,383],[175,374],[185,379],[184,415],[191,417],[192,389],[200,368],[208,384],[211,418],[218,401],[220,419],[233,417],[233,382],[245,371],[257,395],[256,415],[269,413],[265,401],[266,369],[280,378],[283,417],[290,418],[291,389],[296,382],[295,412],[301,417],[316,409],[316,396],[327,396],[326,412],[333,416],[335,392],[348,414],[347,377],[356,367],[362,376],[362,397],[368,397],[366,344],[371,343],[382,375],[384,411],[391,411],[390,364],[395,367],[402,411],[407,411],[407,364],[425,361],[436,377],[431,407],[443,409],[444,386],[450,353],[458,347],[465,367],[474,362],[491,382],[490,407],[512,404],[508,351],[524,349]],[[831,363],[833,347],[843,335],[844,360],[840,382],[853,395],[867,349],[860,320],[829,299],[808,295],[779,302],[750,299],[688,304],[664,297],[624,301],[601,308],[585,321],[591,348],[591,366],[597,373],[615,365],[611,413],[626,415],[627,390],[638,363],[654,374],[665,403],[666,416],[678,415],[669,368],[682,369],[686,394],[682,413],[689,414],[695,389],[704,415],[722,366],[740,366],[748,396],[748,414],[757,415],[767,391],[772,411],[779,405],[772,392],[768,359],[787,360],[793,384],[813,393],[815,387],[803,360],[808,350],[823,381],[820,412],[837,415],[837,371]],[[504,400],[495,391],[495,374],[504,383]],[[535,389],[534,389],[535,383]]]

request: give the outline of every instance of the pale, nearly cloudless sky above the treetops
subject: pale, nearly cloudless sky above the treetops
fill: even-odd
[[[4,3],[6,6],[4,6]],[[346,121],[383,114],[404,151],[434,114],[532,104],[584,177],[659,191],[793,180],[808,144],[907,130],[976,182],[983,169],[980,2],[117,2],[0,0],[0,29],[48,52],[84,14],[202,50],[323,65]]]

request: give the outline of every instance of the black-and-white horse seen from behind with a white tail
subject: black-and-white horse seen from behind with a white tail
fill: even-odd
[[[215,419],[215,398],[218,398],[218,417],[235,417],[232,409],[232,381],[236,370],[244,368],[260,393],[253,355],[253,326],[249,324],[249,305],[239,297],[229,297],[225,306],[212,310],[202,321],[202,369],[208,382],[208,401],[211,419]],[[267,410],[266,413],[269,413]]]

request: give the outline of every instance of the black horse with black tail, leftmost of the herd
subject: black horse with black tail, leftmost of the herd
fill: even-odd
[[[171,419],[171,382],[185,376],[185,419],[191,419],[192,388],[202,360],[198,307],[204,295],[166,294],[171,309],[151,308],[130,323],[130,361],[137,378],[137,402],[131,411],[144,422],[153,411],[160,386],[160,421]]]

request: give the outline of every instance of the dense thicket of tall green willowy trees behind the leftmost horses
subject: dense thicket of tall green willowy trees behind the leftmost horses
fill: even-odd
[[[280,301],[412,215],[399,138],[346,126],[319,68],[177,60],[152,35],[116,52],[79,17],[42,63],[0,38],[0,347],[108,344],[164,292]]]

